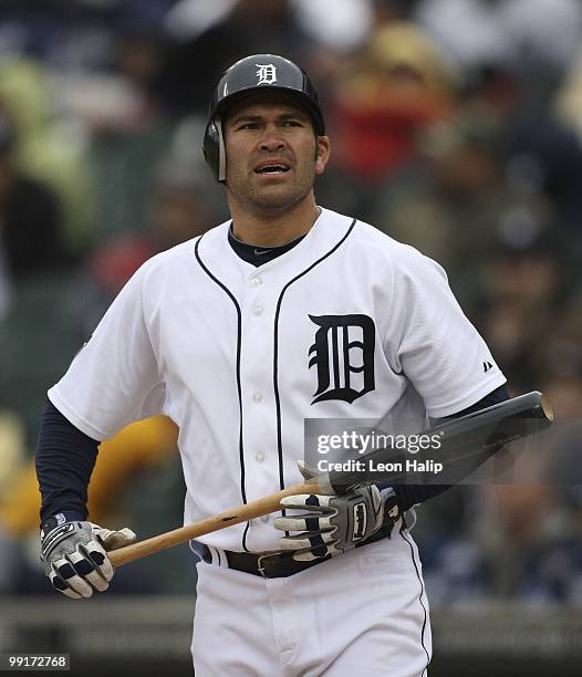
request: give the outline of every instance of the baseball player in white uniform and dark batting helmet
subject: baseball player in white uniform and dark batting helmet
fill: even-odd
[[[69,597],[106,590],[107,551],[134,538],[85,509],[97,445],[131,421],[178,425],[190,523],[300,482],[305,418],[419,430],[507,398],[441,268],[316,205],[330,148],[295,64],[258,54],[226,71],[204,152],[232,218],[147,261],[49,390],[42,562]],[[425,675],[428,604],[404,513],[439,490],[292,497],[193,543],[196,674]]]

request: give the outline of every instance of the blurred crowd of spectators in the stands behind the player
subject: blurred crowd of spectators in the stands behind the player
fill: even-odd
[[[318,201],[439,261],[511,393],[544,390],[572,423],[555,481],[418,510],[432,601],[582,607],[582,489],[560,481],[580,464],[580,0],[0,2],[0,593],[54,594],[31,460],[45,392],[147,258],[228,218],[205,114],[224,69],[257,52],[320,92]],[[94,521],[144,538],[179,525],[183,501],[174,424],[102,445]],[[191,591],[187,551],[166,558],[121,570],[114,592]]]

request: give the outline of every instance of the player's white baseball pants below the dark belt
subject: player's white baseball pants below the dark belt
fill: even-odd
[[[194,628],[196,677],[425,677],[432,655],[406,530],[287,579],[200,562]]]

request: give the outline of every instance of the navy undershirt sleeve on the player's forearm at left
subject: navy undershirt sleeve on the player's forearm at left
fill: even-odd
[[[41,523],[60,512],[67,520],[86,520],[87,486],[98,445],[75,428],[51,402],[46,404],[37,445]]]

